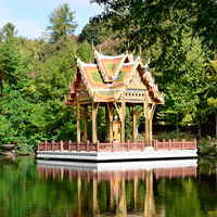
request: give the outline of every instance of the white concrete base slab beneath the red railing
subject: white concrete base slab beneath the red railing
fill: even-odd
[[[169,151],[131,151],[131,152],[68,152],[68,151],[37,151],[37,158],[64,161],[138,161],[138,159],[171,159],[197,157],[197,150],[169,150]]]

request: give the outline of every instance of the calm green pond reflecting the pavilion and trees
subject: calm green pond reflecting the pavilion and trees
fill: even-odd
[[[91,164],[0,157],[0,216],[217,216],[216,158]]]

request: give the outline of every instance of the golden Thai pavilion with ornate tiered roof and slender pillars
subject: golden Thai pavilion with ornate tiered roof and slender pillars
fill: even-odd
[[[140,56],[132,54],[108,56],[94,48],[94,63],[84,63],[77,58],[75,78],[69,88],[66,105],[77,107],[77,142],[87,142],[88,118],[92,119],[92,143],[98,141],[97,114],[99,106],[105,107],[106,142],[113,142],[114,113],[120,123],[120,141],[125,142],[126,108],[132,118],[132,141],[137,141],[137,122],[144,116],[145,145],[152,144],[152,122],[157,104],[164,104],[149,65],[143,65]],[[91,113],[88,113],[88,106]],[[139,110],[139,108],[140,110]],[[88,117],[89,116],[89,117]],[[80,140],[80,120],[84,123],[84,141]]]

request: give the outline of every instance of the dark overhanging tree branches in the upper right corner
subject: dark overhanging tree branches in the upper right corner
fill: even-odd
[[[200,37],[204,47],[217,44],[216,0],[91,0],[104,5],[100,20],[111,20],[113,28],[126,36],[131,50],[150,47],[156,40],[165,46],[181,39],[186,27],[192,28],[191,37]]]

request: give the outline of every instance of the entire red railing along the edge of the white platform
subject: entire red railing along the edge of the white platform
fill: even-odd
[[[129,152],[129,151],[144,151],[145,148],[144,141],[137,141],[137,142],[130,142],[129,140],[127,142],[112,142],[112,143],[100,143],[99,141],[97,143],[90,143],[87,142],[80,142],[75,143],[69,141],[60,141],[60,142],[38,142],[38,151],[86,151],[86,152]],[[195,150],[196,149],[196,140],[194,141],[186,141],[181,140],[175,141],[169,140],[163,142],[158,142],[157,140],[153,141],[153,148],[156,151],[159,150]]]

